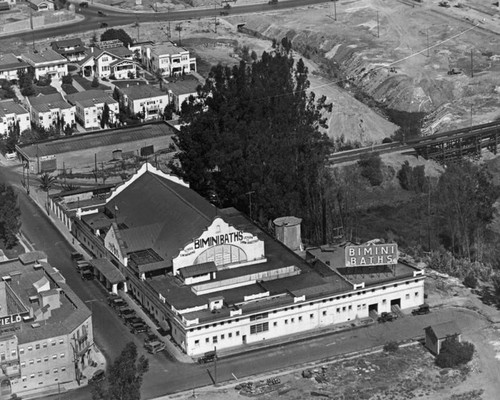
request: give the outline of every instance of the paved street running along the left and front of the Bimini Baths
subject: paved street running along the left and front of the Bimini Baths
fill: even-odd
[[[94,331],[98,346],[108,360],[114,359],[125,343],[134,340],[142,352],[142,341],[133,336],[105,301],[106,293],[96,281],[82,281],[72,266],[69,254],[72,247],[40,210],[26,196],[20,184],[21,177],[12,167],[0,168],[0,181],[11,182],[19,190],[22,212],[22,230],[36,249],[43,250],[49,262],[59,268],[69,285],[82,300],[86,301],[94,314]],[[32,190],[37,184],[31,180]],[[486,326],[483,318],[475,312],[449,308],[433,310],[426,316],[407,316],[395,322],[374,324],[366,328],[328,334],[315,339],[302,340],[287,345],[264,348],[238,357],[220,360],[217,364],[218,382],[244,378],[266,371],[274,371],[315,360],[341,355],[357,350],[381,346],[388,341],[401,341],[423,335],[423,328],[448,320],[457,321],[465,334],[477,332]],[[215,378],[214,365],[183,364],[174,361],[167,353],[148,355],[150,371],[145,376],[143,398],[154,398],[168,393],[212,384]],[[52,398],[59,398],[53,396]],[[72,393],[62,393],[61,400],[89,399],[87,388]]]

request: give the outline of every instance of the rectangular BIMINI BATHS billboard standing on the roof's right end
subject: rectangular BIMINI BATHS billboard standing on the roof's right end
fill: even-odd
[[[346,246],[346,267],[390,265],[398,263],[398,245],[395,243]]]

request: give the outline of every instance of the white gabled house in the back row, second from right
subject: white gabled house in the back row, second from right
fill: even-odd
[[[95,74],[99,78],[128,79],[135,78],[137,65],[133,60],[134,53],[125,46],[95,49]]]

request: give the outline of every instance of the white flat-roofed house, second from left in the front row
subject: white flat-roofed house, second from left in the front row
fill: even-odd
[[[29,97],[31,121],[39,127],[50,129],[61,125],[75,126],[75,106],[69,104],[60,93]]]

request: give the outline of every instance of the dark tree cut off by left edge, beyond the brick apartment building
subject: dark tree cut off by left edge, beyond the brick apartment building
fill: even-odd
[[[8,249],[17,243],[17,233],[21,227],[21,210],[17,205],[17,195],[12,186],[0,183],[0,239]]]

